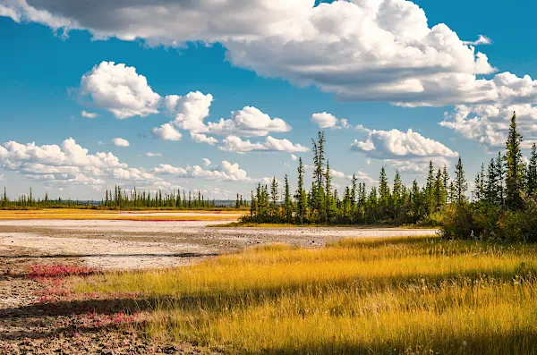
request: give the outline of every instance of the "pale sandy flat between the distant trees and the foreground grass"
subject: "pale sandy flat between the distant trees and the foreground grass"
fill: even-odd
[[[345,237],[395,237],[437,232],[434,229],[397,228],[208,227],[221,223],[47,219],[0,221],[0,254],[2,247],[20,247],[35,250],[38,255],[48,258],[80,258],[91,267],[135,269],[184,266],[201,258],[262,243],[282,242],[316,248]]]

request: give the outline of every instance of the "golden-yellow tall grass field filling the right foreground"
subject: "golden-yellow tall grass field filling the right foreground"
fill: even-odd
[[[527,354],[536,272],[535,245],[406,237],[265,246],[72,287],[141,292],[141,332],[229,353]]]

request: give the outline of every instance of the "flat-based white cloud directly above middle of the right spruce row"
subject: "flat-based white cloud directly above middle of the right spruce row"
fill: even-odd
[[[369,131],[364,141],[354,139],[351,150],[373,158],[408,159],[421,156],[455,157],[458,153],[442,143],[408,131]]]

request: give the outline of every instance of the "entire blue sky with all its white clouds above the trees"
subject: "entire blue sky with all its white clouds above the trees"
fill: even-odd
[[[0,185],[12,198],[101,199],[115,184],[249,197],[286,173],[294,188],[319,130],[338,190],[353,174],[371,187],[381,166],[422,183],[430,160],[453,172],[459,156],[473,180],[513,112],[524,147],[537,139],[536,10],[0,0]]]

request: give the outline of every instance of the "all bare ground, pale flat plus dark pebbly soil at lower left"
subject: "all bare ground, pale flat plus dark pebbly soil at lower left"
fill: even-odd
[[[207,215],[205,215],[207,216]],[[203,258],[283,242],[319,248],[344,237],[429,235],[436,230],[357,228],[218,228],[211,221],[0,221],[0,354],[221,353],[192,344],[138,337],[112,319],[122,300],[43,301],[61,283],[30,280],[32,265],[140,269],[184,266]],[[140,320],[137,320],[140,321]]]

